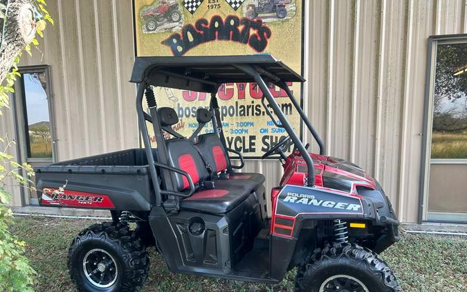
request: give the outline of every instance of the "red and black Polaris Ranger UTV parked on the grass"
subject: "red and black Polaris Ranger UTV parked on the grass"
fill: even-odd
[[[304,82],[302,76],[271,55],[136,57],[131,82],[138,84],[144,149],[35,168],[41,206],[111,212],[112,222],[82,230],[68,250],[80,291],[138,290],[147,277],[147,246],[155,246],[172,273],[273,284],[297,266],[296,291],[400,291],[377,254],[398,240],[391,203],[360,167],[324,155],[322,140],[286,85]],[[284,167],[282,180],[267,192],[263,174],[234,172],[244,160],[226,146],[217,102],[219,86],[228,82],[256,82],[264,111],[288,134],[262,156],[276,157]],[[320,154],[308,152],[268,84],[289,95]],[[157,107],[152,86],[210,93],[210,108],[196,112],[199,127],[192,136],[172,129],[176,112]],[[199,134],[208,123],[214,133]]]

